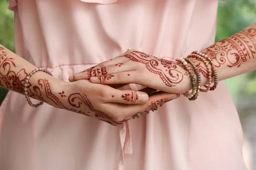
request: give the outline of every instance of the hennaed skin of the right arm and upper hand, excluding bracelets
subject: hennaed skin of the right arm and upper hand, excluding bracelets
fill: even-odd
[[[219,81],[255,70],[256,23],[201,52],[212,59]],[[201,85],[206,85],[207,67],[197,58],[190,59],[201,73]],[[193,70],[191,65],[189,68]],[[137,83],[160,91],[183,94],[191,89],[188,75],[179,61],[169,61],[130,49],[114,59],[71,76],[70,82],[90,79],[90,82],[98,84]],[[213,82],[212,73],[211,79]]]

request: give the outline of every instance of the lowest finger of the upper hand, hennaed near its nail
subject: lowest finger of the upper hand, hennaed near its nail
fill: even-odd
[[[129,84],[136,83],[141,84],[137,71],[128,71],[117,74],[111,74],[108,76],[90,77],[90,82],[99,84]],[[141,84],[143,85],[143,84]]]

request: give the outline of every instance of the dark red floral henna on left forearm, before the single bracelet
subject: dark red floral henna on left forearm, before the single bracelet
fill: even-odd
[[[13,71],[13,68],[16,68],[13,60],[13,58],[8,57],[5,48],[0,47],[0,86],[23,93],[23,81],[28,74],[24,68],[18,72]]]

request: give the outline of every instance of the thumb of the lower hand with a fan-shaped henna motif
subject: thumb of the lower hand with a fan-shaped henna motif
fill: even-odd
[[[109,96],[111,97],[105,98],[108,103],[142,104],[148,101],[148,94],[141,91],[114,90]]]

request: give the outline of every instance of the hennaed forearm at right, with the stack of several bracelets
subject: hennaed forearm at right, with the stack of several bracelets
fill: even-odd
[[[256,69],[256,23],[216,42],[201,51],[215,65],[218,80],[238,76]],[[192,59],[202,74],[202,85],[207,84],[207,69],[203,62]],[[213,81],[213,78],[212,78]]]

